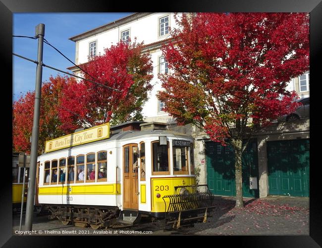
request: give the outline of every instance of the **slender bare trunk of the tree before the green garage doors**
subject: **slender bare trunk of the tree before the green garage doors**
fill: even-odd
[[[242,144],[241,139],[232,141],[235,150],[235,181],[236,181],[236,208],[244,207],[243,180],[242,180]]]

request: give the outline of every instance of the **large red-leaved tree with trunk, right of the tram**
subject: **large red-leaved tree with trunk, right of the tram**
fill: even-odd
[[[162,48],[171,73],[159,99],[178,124],[193,123],[235,154],[236,207],[243,207],[242,154],[259,129],[296,107],[287,83],[309,70],[306,13],[197,13],[176,17]]]

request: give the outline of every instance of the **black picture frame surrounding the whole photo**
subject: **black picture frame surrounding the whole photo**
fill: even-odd
[[[12,13],[15,12],[144,12],[155,10],[158,12],[310,12],[310,95],[311,101],[317,102],[318,94],[321,92],[321,83],[318,78],[318,72],[321,70],[319,67],[319,60],[322,58],[322,2],[321,0],[177,0],[168,2],[167,4],[155,5],[151,2],[133,1],[131,4],[124,4],[120,1],[104,1],[104,0],[92,0],[92,1],[79,1],[79,0],[1,0],[0,2],[0,23],[1,23],[1,59],[2,75],[12,71]],[[6,73],[5,73],[6,72]],[[12,76],[12,73],[9,75]],[[9,79],[10,80],[10,79]],[[8,80],[2,80],[2,87],[6,89]],[[11,163],[12,146],[9,147],[7,141],[11,140],[12,136],[10,130],[12,130],[12,124],[9,123],[12,120],[12,98],[10,94],[5,94],[2,91],[2,98],[4,99],[6,106],[4,109],[5,118],[2,120],[2,143],[4,144],[3,153],[5,157],[5,163],[2,164],[2,173],[5,175],[11,175],[9,164]],[[9,100],[9,98],[11,98]],[[9,107],[8,102],[11,103]],[[316,103],[317,110],[318,104]],[[321,104],[320,104],[321,106]],[[312,108],[311,108],[312,109]],[[310,138],[310,160],[313,162],[319,161],[317,157],[318,149],[320,148],[319,140],[321,134],[319,132],[319,118],[317,114],[311,113],[311,135]],[[12,133],[12,131],[11,131]],[[308,248],[322,246],[322,214],[321,214],[321,185],[319,184],[319,167],[320,163],[311,163],[311,178],[310,178],[310,236],[238,236],[238,237],[207,237],[207,241],[204,241],[205,237],[194,237],[200,240],[203,246],[227,246],[231,241],[236,242],[237,247],[292,247],[292,248]],[[5,167],[5,168],[4,168]],[[71,236],[60,236],[57,243],[57,237],[55,236],[13,236],[12,235],[12,203],[11,203],[12,187],[11,178],[2,177],[1,180],[1,207],[0,207],[0,246],[1,247],[57,247],[66,239],[69,240]],[[89,237],[75,237],[78,242],[82,242]],[[98,237],[91,237],[97,239]],[[107,237],[103,237],[107,238]],[[108,237],[110,239],[111,237]],[[132,238],[132,237],[131,237]],[[144,237],[141,244],[149,246],[158,246],[159,242],[162,247],[174,245],[173,239],[158,238],[157,240],[151,239],[155,237]],[[169,237],[171,238],[171,237]],[[172,237],[173,238],[173,237]],[[218,239],[223,243],[218,243]],[[53,240],[53,242],[52,242]],[[107,240],[107,239],[106,239]],[[116,239],[119,240],[119,239]],[[146,241],[144,241],[146,240]],[[189,242],[190,237],[180,239],[182,242]],[[55,241],[55,242],[54,242]],[[80,243],[78,243],[80,244]],[[96,243],[97,246],[100,243]],[[108,242],[107,242],[108,244]],[[184,243],[180,243],[181,246]],[[101,243],[101,245],[103,245]],[[111,245],[111,244],[109,244]],[[138,244],[137,244],[138,245]],[[191,244],[192,245],[192,244]],[[195,246],[195,245],[193,245]],[[197,245],[198,246],[198,243]]]

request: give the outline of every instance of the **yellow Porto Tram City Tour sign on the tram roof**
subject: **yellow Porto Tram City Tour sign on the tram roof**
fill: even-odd
[[[106,138],[109,138],[109,123],[46,141],[45,152],[60,150]]]

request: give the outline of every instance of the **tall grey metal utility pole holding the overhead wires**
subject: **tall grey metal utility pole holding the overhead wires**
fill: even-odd
[[[36,189],[36,170],[37,170],[37,155],[38,155],[38,139],[39,139],[39,116],[40,116],[40,100],[41,87],[43,77],[43,48],[45,36],[45,24],[40,23],[36,26],[36,36],[38,36],[38,57],[36,70],[36,91],[35,91],[35,109],[34,122],[32,126],[31,136],[31,153],[30,153],[30,168],[29,168],[29,182],[26,205],[26,220],[25,231],[32,231],[32,219],[34,213],[34,199]]]

